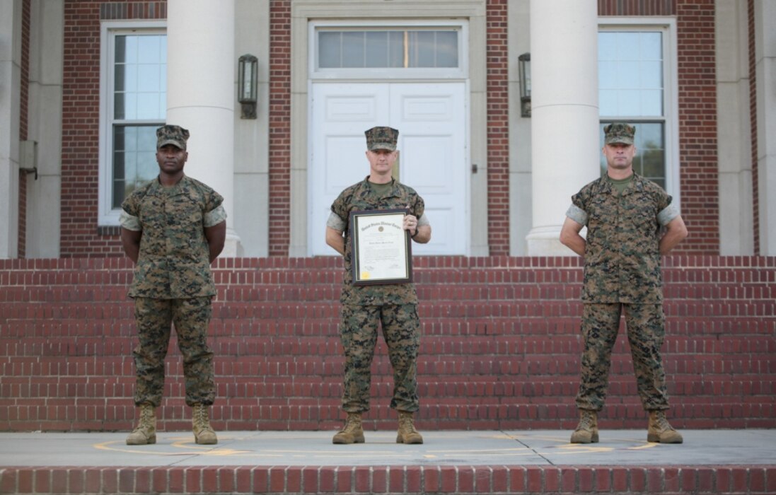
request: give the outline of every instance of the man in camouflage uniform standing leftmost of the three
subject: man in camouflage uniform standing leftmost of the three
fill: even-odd
[[[130,445],[156,441],[152,413],[161,403],[172,324],[183,356],[185,403],[194,408],[196,441],[217,442],[207,416],[215,384],[206,337],[216,294],[210,263],[223,249],[226,212],[217,192],[183,175],[188,137],[180,126],[160,127],[160,175],[122,203],[123,246],[136,263],[129,296],[135,302],[139,340],[133,355],[140,424],[127,438]]]

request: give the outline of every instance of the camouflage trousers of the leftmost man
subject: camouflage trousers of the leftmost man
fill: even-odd
[[[212,404],[216,396],[213,352],[207,345],[210,324],[210,296],[191,299],[135,298],[135,320],[139,344],[135,358],[135,404],[148,402],[158,407],[165,387],[165,356],[175,324],[178,348],[183,355],[186,404]]]

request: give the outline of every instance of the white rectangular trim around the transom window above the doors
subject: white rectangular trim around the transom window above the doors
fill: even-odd
[[[459,29],[460,36],[458,40],[458,60],[460,66],[456,68],[335,68],[335,69],[319,69],[318,68],[318,50],[316,36],[317,29],[320,27],[327,28],[343,28],[343,29],[393,29],[393,28],[433,28],[444,27]],[[365,80],[365,79],[459,79],[464,80],[469,77],[469,21],[467,19],[449,19],[449,20],[433,20],[433,19],[416,19],[416,20],[396,20],[396,21],[350,21],[350,20],[321,20],[312,21],[309,23],[310,33],[308,33],[307,40],[310,43],[309,52],[312,56],[309,58],[309,74],[310,79],[338,79],[338,80]]]

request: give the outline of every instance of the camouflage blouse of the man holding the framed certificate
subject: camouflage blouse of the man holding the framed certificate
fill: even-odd
[[[414,189],[393,179],[393,187],[382,196],[369,185],[369,178],[352,185],[340,193],[331,204],[331,211],[343,220],[345,227],[345,277],[340,302],[357,306],[381,304],[417,304],[415,286],[387,284],[379,286],[354,286],[352,275],[352,239],[350,237],[350,212],[369,209],[404,209],[420,218],[425,206],[423,198]]]

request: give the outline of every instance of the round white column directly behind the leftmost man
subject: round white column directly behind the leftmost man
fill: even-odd
[[[234,257],[234,0],[170,0],[167,12],[167,123],[191,132],[185,173],[223,196]]]

